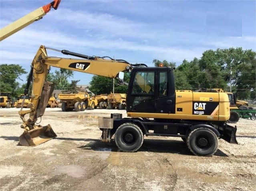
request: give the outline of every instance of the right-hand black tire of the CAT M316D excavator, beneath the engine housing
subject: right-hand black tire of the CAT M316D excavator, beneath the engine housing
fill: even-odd
[[[204,142],[206,146],[200,146],[198,143],[199,138]],[[215,132],[208,128],[196,128],[192,130],[186,140],[187,147],[196,156],[213,156],[218,150],[219,139]]]

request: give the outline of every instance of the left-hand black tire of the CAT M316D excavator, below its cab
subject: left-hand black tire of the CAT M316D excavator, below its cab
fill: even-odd
[[[125,140],[125,135],[127,138],[132,136],[132,140]],[[144,136],[143,132],[134,123],[124,123],[120,125],[115,132],[115,144],[123,152],[135,152],[143,144]]]

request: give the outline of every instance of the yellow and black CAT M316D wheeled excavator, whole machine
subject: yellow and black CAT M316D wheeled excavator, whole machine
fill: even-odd
[[[50,57],[46,49],[81,59]],[[20,145],[36,146],[56,137],[50,124],[35,124],[44,114],[54,89],[54,84],[46,81],[50,67],[117,78],[119,81],[122,81],[122,72],[130,73],[126,97],[128,117],[111,114],[110,118],[99,118],[101,141],[109,142],[115,134],[115,143],[124,152],[137,151],[143,144],[144,136],[180,137],[197,156],[212,156],[218,149],[220,138],[237,144],[236,126],[226,123],[230,117],[226,93],[175,91],[171,67],[133,65],[125,60],[90,57],[41,45],[32,61],[24,91],[26,95],[32,81],[31,107],[19,112],[23,120],[21,128],[24,128]],[[26,114],[30,115],[27,120]]]

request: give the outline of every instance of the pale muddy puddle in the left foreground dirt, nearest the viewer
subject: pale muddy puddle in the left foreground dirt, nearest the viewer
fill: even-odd
[[[54,174],[67,174],[68,176],[79,178],[85,175],[85,169],[79,165],[61,165],[56,167]]]

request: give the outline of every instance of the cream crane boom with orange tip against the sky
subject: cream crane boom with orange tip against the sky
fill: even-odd
[[[22,18],[2,28],[0,30],[0,41],[6,39],[10,35],[18,32],[19,30],[32,24],[33,22],[42,19],[42,17],[45,16],[50,11],[51,8],[54,8],[56,10],[59,4],[60,4],[60,0],[54,0],[53,2],[46,4],[30,12],[29,14],[26,14]]]

